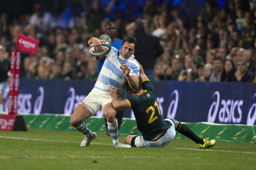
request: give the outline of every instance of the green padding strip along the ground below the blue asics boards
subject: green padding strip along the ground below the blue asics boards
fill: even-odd
[[[50,129],[61,131],[76,131],[70,124],[70,116],[60,114],[24,114],[28,129]],[[90,117],[84,121],[87,127],[96,133],[105,133],[105,118]],[[184,123],[197,136],[202,138],[209,137],[216,141],[256,143],[256,126],[241,124],[213,124],[207,122]],[[136,121],[130,118],[123,118],[120,135],[138,135],[141,133],[137,129]],[[175,138],[187,138],[176,131]]]

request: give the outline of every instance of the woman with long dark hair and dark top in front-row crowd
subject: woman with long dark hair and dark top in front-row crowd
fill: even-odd
[[[224,61],[223,71],[220,76],[220,81],[237,81],[235,77],[235,65],[232,60],[226,59]]]

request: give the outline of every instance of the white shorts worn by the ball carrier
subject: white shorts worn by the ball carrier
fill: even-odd
[[[108,92],[99,89],[92,89],[88,96],[84,98],[79,104],[84,105],[92,112],[92,115],[102,109],[108,103],[112,103],[113,97]]]

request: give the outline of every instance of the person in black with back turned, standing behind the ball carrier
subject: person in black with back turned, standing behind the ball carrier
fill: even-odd
[[[143,66],[149,80],[154,80],[154,60],[164,53],[159,39],[145,32],[142,19],[135,22],[136,30],[133,36],[137,39],[138,45],[134,53],[136,60]],[[147,43],[145,43],[147,42]]]

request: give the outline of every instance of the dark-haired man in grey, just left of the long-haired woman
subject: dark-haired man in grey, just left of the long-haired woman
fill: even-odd
[[[220,82],[220,75],[222,73],[223,62],[222,58],[216,57],[212,61],[213,73],[210,77],[211,82]]]

